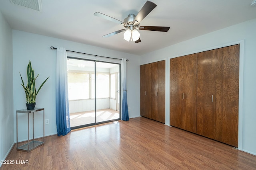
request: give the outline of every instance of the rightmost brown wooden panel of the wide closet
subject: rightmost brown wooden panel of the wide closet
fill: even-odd
[[[239,45],[217,49],[217,141],[238,147]]]

